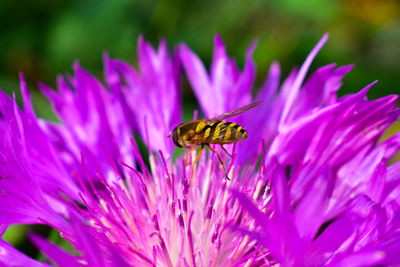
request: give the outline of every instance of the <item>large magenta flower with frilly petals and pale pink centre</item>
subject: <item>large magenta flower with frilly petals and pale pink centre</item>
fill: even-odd
[[[140,71],[106,55],[105,85],[75,64],[57,91],[40,86],[59,123],[36,117],[21,75],[23,109],[0,92],[0,231],[56,229],[75,251],[29,237],[57,266],[400,264],[400,165],[388,163],[400,135],[379,142],[397,96],[368,101],[371,84],[338,98],[352,66],[305,80],[326,40],[281,86],[272,63],[252,98],[254,44],[240,71],[216,36],[208,74],[187,46],[171,58],[139,38]],[[208,118],[263,101],[232,118],[249,138],[223,155],[230,181],[214,154],[172,159],[180,63]],[[48,266],[4,240],[0,263]]]

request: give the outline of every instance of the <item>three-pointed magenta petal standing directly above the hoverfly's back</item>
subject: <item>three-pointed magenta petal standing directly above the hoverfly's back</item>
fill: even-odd
[[[214,56],[210,73],[187,46],[181,45],[179,55],[193,91],[208,118],[215,117],[251,102],[255,78],[252,59],[255,42],[246,53],[245,66],[240,71],[236,62],[226,54],[219,35],[214,38]],[[226,96],[229,95],[229,98]]]

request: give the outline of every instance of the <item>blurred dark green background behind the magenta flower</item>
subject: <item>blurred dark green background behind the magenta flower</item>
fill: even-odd
[[[208,66],[215,33],[222,35],[240,66],[246,48],[258,39],[257,88],[272,60],[281,63],[286,76],[325,32],[330,33],[329,41],[311,69],[332,62],[355,64],[340,94],[358,91],[376,79],[379,83],[369,97],[400,92],[398,0],[2,0],[0,88],[18,94],[22,71],[37,114],[55,119],[37,83],[54,87],[57,74],[71,72],[75,60],[102,80],[103,52],[136,65],[137,38],[142,34],[153,45],[165,38],[171,50],[185,42]],[[184,79],[182,83],[185,103],[195,105]],[[40,257],[26,240],[26,229],[13,227],[5,239]],[[32,229],[61,240],[41,226]]]

